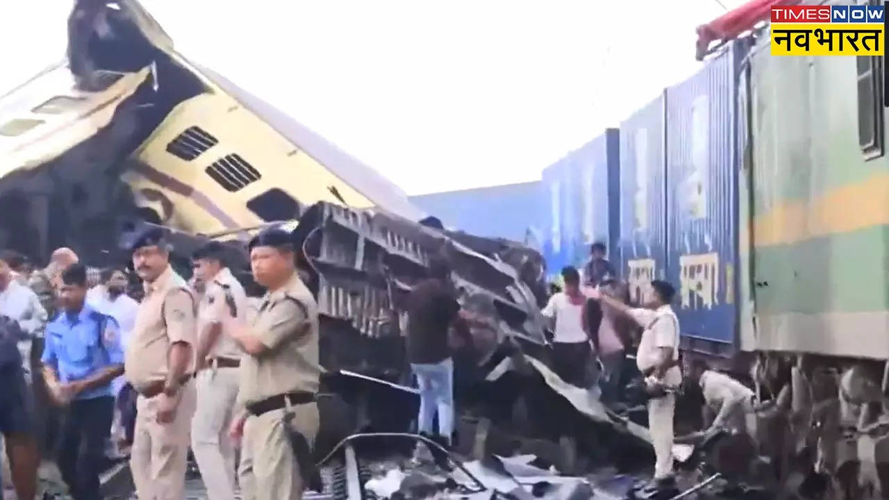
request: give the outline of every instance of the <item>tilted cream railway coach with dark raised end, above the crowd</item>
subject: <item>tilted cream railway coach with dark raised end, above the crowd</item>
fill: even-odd
[[[298,218],[318,201],[424,215],[367,165],[176,52],[140,4],[112,5],[99,12],[107,33],[78,35],[97,69],[88,90],[65,61],[0,97],[0,246],[36,262],[70,246],[98,262],[113,248],[96,242],[115,240],[120,217],[209,234]]]

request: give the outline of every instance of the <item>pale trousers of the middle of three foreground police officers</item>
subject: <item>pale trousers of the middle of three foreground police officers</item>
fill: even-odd
[[[197,374],[197,407],[191,449],[209,500],[235,500],[235,442],[228,427],[237,399],[237,368],[207,368]]]

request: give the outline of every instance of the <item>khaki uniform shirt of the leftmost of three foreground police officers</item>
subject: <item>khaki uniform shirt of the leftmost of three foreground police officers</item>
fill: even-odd
[[[195,345],[195,306],[185,280],[171,267],[145,287],[130,344],[124,356],[126,379],[137,391],[167,376],[167,354],[172,343]],[[192,356],[185,373],[194,373]]]

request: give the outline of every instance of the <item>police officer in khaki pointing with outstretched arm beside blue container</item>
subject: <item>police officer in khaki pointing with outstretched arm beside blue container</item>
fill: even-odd
[[[676,393],[682,383],[679,370],[679,320],[670,302],[676,294],[666,281],[652,281],[652,300],[645,308],[630,308],[627,304],[603,294],[598,288],[592,298],[606,307],[635,319],[644,328],[636,355],[639,371],[645,375],[645,385],[652,399],[648,401],[648,428],[654,447],[654,480],[664,484],[673,476],[673,414]]]

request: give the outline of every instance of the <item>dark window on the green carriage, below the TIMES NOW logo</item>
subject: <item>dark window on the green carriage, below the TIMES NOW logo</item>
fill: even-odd
[[[866,159],[884,153],[882,56],[858,56],[858,143]]]

